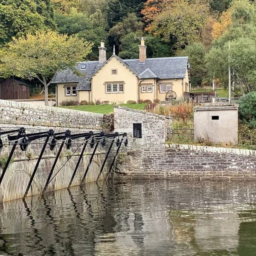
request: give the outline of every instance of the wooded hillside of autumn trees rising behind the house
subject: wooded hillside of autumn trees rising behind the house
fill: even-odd
[[[0,47],[41,30],[93,43],[89,60],[98,58],[102,39],[108,56],[115,45],[121,58],[137,58],[135,36],[151,37],[149,58],[189,56],[192,86],[213,78],[226,85],[230,53],[236,87],[256,88],[256,6],[250,0],[0,0]]]

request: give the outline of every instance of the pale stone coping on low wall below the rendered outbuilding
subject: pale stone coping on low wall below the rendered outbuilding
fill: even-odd
[[[219,147],[210,147],[210,146],[167,144],[167,143],[166,143],[166,148],[172,148],[177,150],[210,152],[210,153],[230,153],[230,154],[237,154],[237,155],[256,156],[256,150],[241,149],[241,148],[219,148]]]

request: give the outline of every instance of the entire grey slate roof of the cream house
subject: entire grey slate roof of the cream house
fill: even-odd
[[[140,79],[179,79],[186,77],[188,57],[148,58],[143,63],[140,63],[139,59],[122,60],[116,55],[111,56],[111,58],[113,57],[116,57],[125,64],[125,66]],[[105,62],[105,64],[107,62]],[[86,69],[81,69],[82,64],[87,64]],[[71,70],[64,70],[54,76],[52,84],[78,83],[77,90],[91,90],[90,78],[103,65],[99,64],[99,61],[79,62],[76,68],[83,73],[84,76],[77,76]]]

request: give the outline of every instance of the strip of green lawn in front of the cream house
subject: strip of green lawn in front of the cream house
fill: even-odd
[[[144,110],[146,103],[142,104],[120,104],[120,106],[133,108],[137,110]],[[60,106],[59,108],[69,108],[74,110],[81,110],[93,113],[109,114],[113,113],[113,105],[84,105],[84,106]]]

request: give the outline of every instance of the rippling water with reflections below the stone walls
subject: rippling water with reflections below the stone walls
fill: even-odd
[[[116,181],[7,202],[0,254],[253,256],[256,186]]]

